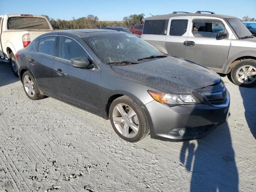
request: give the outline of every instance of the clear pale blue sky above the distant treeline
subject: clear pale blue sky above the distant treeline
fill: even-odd
[[[145,17],[173,11],[209,10],[242,18],[256,18],[256,0],[0,0],[1,14],[46,14],[71,20],[93,14],[100,20],[122,20],[130,14]]]

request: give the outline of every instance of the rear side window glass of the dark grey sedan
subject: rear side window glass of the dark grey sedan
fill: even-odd
[[[54,37],[41,38],[40,40],[38,40],[39,44],[38,44],[37,51],[40,52],[40,53],[55,56],[55,53],[56,53],[56,51],[55,51],[55,40],[56,40],[55,36]],[[35,43],[35,46],[36,46],[36,43]]]

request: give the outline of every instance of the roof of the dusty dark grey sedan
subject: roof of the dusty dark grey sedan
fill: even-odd
[[[85,38],[96,35],[106,35],[106,34],[127,34],[126,32],[110,30],[110,29],[72,29],[72,30],[58,30],[54,32],[49,32],[42,34],[38,38],[49,35],[66,35],[73,38]]]

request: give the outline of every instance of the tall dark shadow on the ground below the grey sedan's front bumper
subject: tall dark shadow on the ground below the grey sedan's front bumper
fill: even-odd
[[[220,111],[205,116],[205,120],[212,121],[216,115],[223,118]],[[193,120],[189,116],[187,124]],[[180,162],[192,174],[190,192],[238,192],[238,170],[227,122],[205,138],[183,142]]]

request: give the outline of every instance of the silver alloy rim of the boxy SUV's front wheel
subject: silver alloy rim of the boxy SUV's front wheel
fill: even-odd
[[[256,68],[250,65],[242,66],[237,70],[236,78],[241,83],[250,84],[256,80]]]

